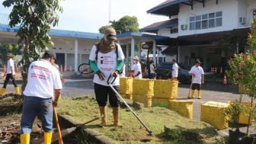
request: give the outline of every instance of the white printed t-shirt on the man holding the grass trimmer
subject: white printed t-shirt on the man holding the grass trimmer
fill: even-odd
[[[89,56],[90,60],[95,60],[96,50],[97,50],[97,47],[92,46],[91,53]],[[117,53],[118,53],[118,59],[117,59]],[[117,43],[117,53],[116,53],[116,50],[111,50],[109,53],[101,53],[100,51],[98,52],[98,59],[96,63],[97,63],[98,69],[104,74],[105,78],[108,78],[109,75],[111,75],[112,72],[116,70],[117,60],[124,59],[123,50],[121,49],[121,46],[118,43]],[[107,86],[107,82],[102,81],[97,74],[94,74],[93,82],[100,85]],[[117,75],[117,78],[112,85],[120,85],[119,75]]]

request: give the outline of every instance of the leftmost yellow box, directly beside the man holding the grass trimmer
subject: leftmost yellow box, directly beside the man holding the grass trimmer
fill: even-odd
[[[133,78],[120,78],[120,94],[133,94]]]

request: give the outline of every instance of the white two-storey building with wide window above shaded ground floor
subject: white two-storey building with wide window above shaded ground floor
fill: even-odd
[[[147,11],[166,15],[168,21],[150,24],[142,32],[170,37],[162,41],[177,53],[178,62],[205,69],[224,66],[229,56],[247,50],[245,38],[256,16],[255,0],[167,0]],[[176,23],[175,23],[176,22]]]

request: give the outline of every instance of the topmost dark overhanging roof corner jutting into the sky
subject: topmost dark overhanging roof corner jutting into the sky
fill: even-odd
[[[167,0],[154,8],[149,9],[147,13],[166,16],[177,15],[179,11],[179,4],[181,2],[189,2],[189,0]]]

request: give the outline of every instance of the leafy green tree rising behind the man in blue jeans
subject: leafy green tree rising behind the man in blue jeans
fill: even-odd
[[[21,63],[27,72],[30,62],[43,55],[47,46],[53,46],[49,35],[51,25],[58,24],[57,11],[62,12],[60,0],[5,0],[2,5],[13,7],[9,14],[10,27],[19,25],[17,36],[18,43],[24,44],[24,54]],[[23,75],[22,89],[27,85],[27,75]]]

